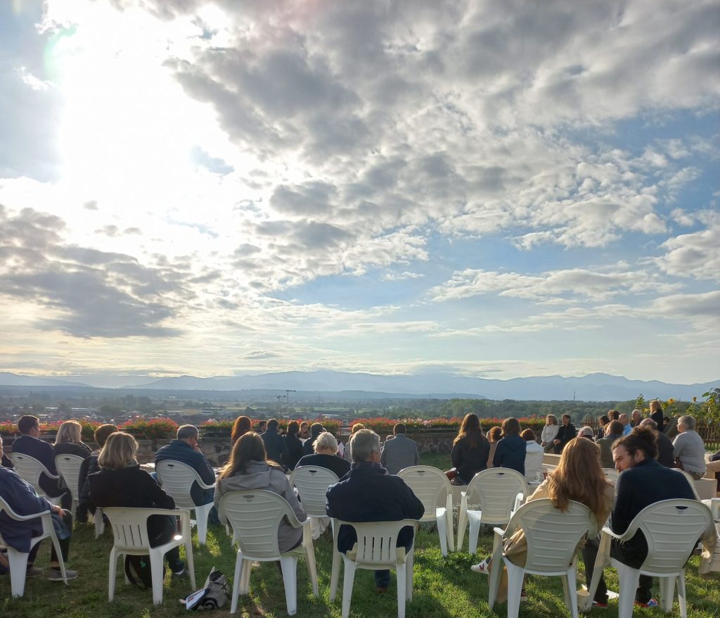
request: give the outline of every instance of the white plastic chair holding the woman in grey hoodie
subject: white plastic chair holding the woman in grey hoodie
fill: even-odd
[[[230,614],[238,609],[238,595],[247,594],[250,589],[252,562],[280,561],[282,580],[285,587],[287,613],[297,613],[297,549],[280,553],[277,542],[277,529],[282,518],[295,528],[310,527],[310,518],[297,521],[292,507],[282,496],[267,490],[230,491],[220,499],[217,508],[220,521],[226,519],[233,527],[238,539],[238,555],[235,560],[235,578],[233,580],[233,600]],[[309,539],[309,542],[308,542]],[[319,596],[318,570],[315,566],[315,549],[309,534],[302,535],[302,549],[305,550],[307,573],[312,582],[312,593]]]

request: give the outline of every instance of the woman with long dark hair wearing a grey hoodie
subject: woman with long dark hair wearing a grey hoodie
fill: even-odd
[[[263,438],[254,431],[244,434],[235,442],[230,461],[215,483],[215,508],[220,505],[223,495],[243,489],[263,489],[276,493],[287,500],[298,521],[307,519],[307,513],[300,506],[282,468],[279,464],[268,461]],[[302,527],[293,528],[289,521],[283,518],[278,526],[277,541],[280,553],[289,552],[302,542]]]

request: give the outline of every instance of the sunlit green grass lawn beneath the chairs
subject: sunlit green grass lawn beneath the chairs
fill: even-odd
[[[432,464],[442,469],[449,467],[447,455],[423,456],[423,464]],[[10,597],[8,576],[0,577],[0,616],[12,618],[98,618],[98,617],[157,617],[177,616],[184,609],[178,599],[186,596],[190,590],[189,581],[170,581],[166,579],[163,604],[153,607],[150,592],[126,586],[119,575],[112,604],[107,601],[107,568],[109,549],[112,546],[112,534],[106,531],[104,537],[94,540],[94,529],[89,524],[76,526],[73,532],[70,564],[80,570],[76,581],[69,586],[62,583],[50,583],[42,579],[30,580],[25,588],[23,599]],[[481,534],[479,554],[490,553],[492,537],[489,531]],[[505,604],[495,607],[495,612],[487,606],[487,578],[469,570],[477,557],[467,553],[467,534],[464,552],[455,552],[442,557],[436,531],[431,526],[423,526],[418,534],[415,551],[415,579],[413,601],[408,604],[408,618],[443,617],[490,617],[505,616]],[[39,566],[47,564],[49,547],[43,542],[40,549]],[[312,596],[312,588],[305,570],[305,563],[298,565],[298,611],[300,617],[336,617],[341,616],[341,590],[334,603],[328,601],[330,587],[331,543],[328,534],[323,535],[315,544],[320,581],[320,599]],[[204,578],[215,565],[228,576],[232,583],[235,568],[235,551],[230,547],[230,539],[225,529],[210,526],[207,546],[194,544],[195,570],[197,583],[202,586]],[[720,616],[720,577],[715,574],[701,578],[697,573],[698,557],[693,557],[688,565],[688,614],[693,618]],[[580,568],[582,573],[582,568]],[[617,578],[609,570],[608,586],[617,589]],[[583,581],[582,575],[578,580]],[[562,604],[562,584],[559,578],[533,577],[527,584],[529,600],[521,606],[521,616],[557,617],[569,616]],[[241,597],[238,615],[256,618],[259,616],[283,617],[285,600],[282,578],[272,564],[254,568],[251,575],[250,595]],[[215,612],[221,616],[229,614],[230,605]],[[594,609],[590,617],[616,617],[617,606],[611,602],[608,609]],[[638,617],[659,616],[659,609],[640,609]],[[674,615],[679,615],[675,602]],[[396,617],[397,602],[395,586],[378,596],[374,591],[372,573],[358,571],[351,604],[351,616]]]

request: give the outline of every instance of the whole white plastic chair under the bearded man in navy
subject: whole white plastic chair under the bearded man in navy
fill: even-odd
[[[685,562],[695,549],[698,539],[706,531],[713,530],[710,509],[697,500],[662,500],[646,506],[630,522],[624,534],[616,534],[607,526],[603,528],[598,557],[595,560],[593,581],[590,583],[590,599],[598,589],[603,568],[610,564],[618,571],[620,599],[618,617],[631,618],[635,591],[640,575],[660,578],[662,609],[670,612],[675,597],[675,580],[678,579],[680,616],[687,618],[688,604],[685,597]],[[639,569],[634,569],[610,556],[612,539],[629,541],[638,531],[647,540],[647,557]]]

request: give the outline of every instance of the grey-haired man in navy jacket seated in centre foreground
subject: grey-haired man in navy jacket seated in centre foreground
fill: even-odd
[[[344,521],[400,521],[420,519],[425,513],[423,503],[400,477],[387,474],[380,465],[380,436],[369,429],[357,431],[351,438],[354,463],[343,480],[328,487],[328,517]],[[397,547],[409,551],[415,530],[405,526],[397,535]],[[357,541],[351,526],[338,531],[338,551],[348,552]],[[375,571],[379,593],[390,586],[390,571]]]

